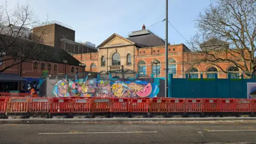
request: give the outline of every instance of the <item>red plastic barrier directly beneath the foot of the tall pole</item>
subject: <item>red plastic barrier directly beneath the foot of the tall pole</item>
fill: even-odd
[[[169,112],[168,105],[170,100],[152,99],[150,101],[150,113],[167,113]]]

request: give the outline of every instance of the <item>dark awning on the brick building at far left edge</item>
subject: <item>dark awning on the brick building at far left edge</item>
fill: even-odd
[[[26,79],[17,74],[3,74],[0,73],[0,82],[23,82]]]

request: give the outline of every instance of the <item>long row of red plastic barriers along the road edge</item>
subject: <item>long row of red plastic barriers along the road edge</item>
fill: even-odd
[[[256,99],[0,97],[0,116],[256,116]]]

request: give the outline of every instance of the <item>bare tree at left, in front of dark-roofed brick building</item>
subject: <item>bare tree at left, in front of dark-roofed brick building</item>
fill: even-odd
[[[7,1],[0,6],[0,63],[8,63],[0,73],[39,54],[38,44],[46,31],[34,36],[31,28],[35,25],[40,24],[28,4],[17,4],[12,10],[8,9]]]

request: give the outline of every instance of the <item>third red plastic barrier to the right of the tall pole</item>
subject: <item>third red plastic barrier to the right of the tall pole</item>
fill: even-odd
[[[203,112],[219,112],[220,100],[218,99],[204,99],[203,100]]]

